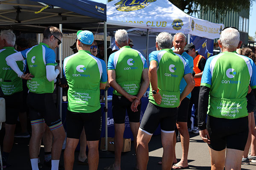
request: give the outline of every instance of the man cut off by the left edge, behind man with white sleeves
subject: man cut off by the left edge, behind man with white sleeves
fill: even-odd
[[[11,30],[0,33],[0,86],[6,101],[5,136],[3,139],[3,168],[7,166],[7,158],[12,150],[15,125],[22,105],[22,79],[6,63],[6,57],[16,53],[15,34]],[[1,49],[2,48],[2,49]],[[23,62],[17,62],[18,69],[23,71]]]

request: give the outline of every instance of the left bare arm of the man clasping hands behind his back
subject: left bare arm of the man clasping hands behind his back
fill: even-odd
[[[122,96],[125,96],[130,102],[133,102],[134,99],[138,99],[136,96],[128,94],[117,82],[116,82],[116,71],[108,70],[108,82],[109,84]]]

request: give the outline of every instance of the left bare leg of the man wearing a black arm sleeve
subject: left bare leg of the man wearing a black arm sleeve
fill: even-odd
[[[209,152],[211,156],[211,170],[224,170],[226,149],[216,151],[209,147]],[[238,161],[238,163],[241,166],[241,159]]]

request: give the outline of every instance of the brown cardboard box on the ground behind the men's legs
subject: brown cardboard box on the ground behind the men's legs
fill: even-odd
[[[100,150],[105,150],[105,138],[101,139]],[[108,151],[114,151],[114,138],[108,138]],[[123,140],[122,152],[131,150],[131,138]]]

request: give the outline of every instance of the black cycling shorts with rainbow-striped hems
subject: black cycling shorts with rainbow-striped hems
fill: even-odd
[[[52,98],[52,93],[35,94],[29,92],[27,105],[29,107],[31,125],[45,122],[50,130],[62,126],[59,112]]]

